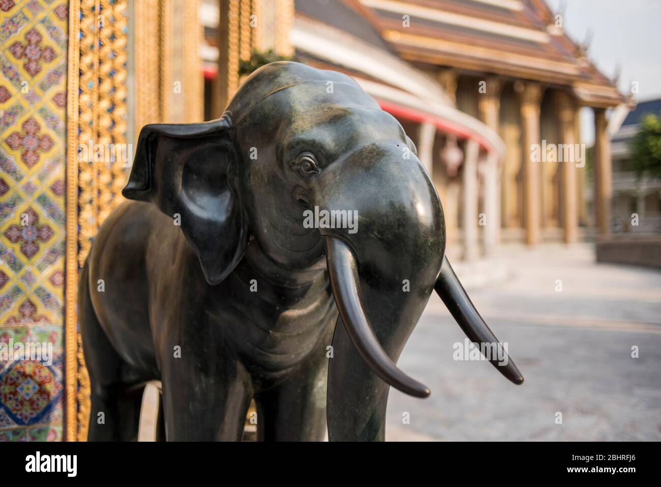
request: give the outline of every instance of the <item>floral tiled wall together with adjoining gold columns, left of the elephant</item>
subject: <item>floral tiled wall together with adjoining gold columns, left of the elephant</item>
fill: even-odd
[[[198,5],[0,0],[0,441],[87,438],[78,271],[98,226],[122,200],[126,168],[85,159],[79,148],[126,144],[130,126],[165,114],[201,121],[199,58],[170,64],[197,50]],[[157,60],[155,69],[145,59]],[[175,81],[182,99],[167,96]],[[159,118],[151,119],[145,107],[155,103]],[[53,356],[8,357],[11,343],[50,343]]]

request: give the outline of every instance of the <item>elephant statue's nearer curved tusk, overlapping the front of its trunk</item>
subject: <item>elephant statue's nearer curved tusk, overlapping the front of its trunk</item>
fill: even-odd
[[[326,237],[326,259],[331,288],[344,328],[372,371],[405,394],[426,398],[430,390],[397,368],[381,347],[365,316],[358,292],[358,269],[351,249],[342,240]]]

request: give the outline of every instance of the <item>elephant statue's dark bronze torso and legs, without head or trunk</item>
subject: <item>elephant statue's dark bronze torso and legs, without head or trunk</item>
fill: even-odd
[[[85,272],[81,301],[91,301],[98,319],[81,320],[81,332],[107,339],[116,352],[100,359],[108,343],[83,342],[94,403],[116,400],[108,396],[121,386],[161,380],[165,409],[180,411],[166,416],[168,439],[241,439],[253,395],[264,418],[258,425],[285,422],[260,428],[260,439],[323,439],[327,346],[337,318],[324,269],[283,273],[253,240],[233,272],[210,286],[173,220],[152,204],[130,201],[100,228]],[[279,388],[297,394],[272,404]],[[225,394],[235,400],[227,411],[233,427],[219,414]],[[278,420],[284,412],[293,417]],[[124,427],[94,418],[91,426],[93,437],[108,439]],[[129,429],[132,437],[135,425]]]

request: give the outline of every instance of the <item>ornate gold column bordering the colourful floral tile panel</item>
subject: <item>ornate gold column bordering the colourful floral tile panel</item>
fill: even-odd
[[[65,276],[66,439],[87,438],[89,377],[78,333],[80,267],[126,182],[126,0],[69,2]],[[119,155],[119,157],[118,157]]]

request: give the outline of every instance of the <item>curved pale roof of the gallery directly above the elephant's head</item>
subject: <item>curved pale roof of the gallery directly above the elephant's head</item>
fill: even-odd
[[[457,138],[475,140],[488,153],[504,155],[504,142],[492,128],[457,109],[438,81],[378,40],[379,31],[357,0],[309,0],[299,5],[305,7],[296,11],[290,33],[299,60],[352,76],[395,116],[434,124]],[[336,21],[351,15],[351,22]]]

